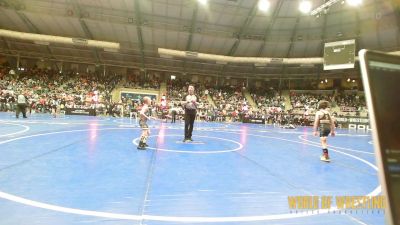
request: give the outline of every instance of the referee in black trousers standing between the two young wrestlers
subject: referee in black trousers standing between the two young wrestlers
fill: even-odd
[[[193,124],[196,118],[197,97],[194,95],[194,86],[188,88],[189,94],[184,98],[183,108],[185,109],[185,139],[183,142],[192,140]]]

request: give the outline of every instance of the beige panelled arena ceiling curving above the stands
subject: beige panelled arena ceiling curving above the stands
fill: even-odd
[[[327,1],[327,0],[326,0]],[[312,0],[313,8],[325,0]],[[118,42],[103,49],[0,38],[0,53],[52,61],[232,76],[304,75],[320,65],[232,65],[164,58],[158,48],[251,57],[321,57],[323,44],[355,39],[357,49],[398,51],[398,0],[338,2],[317,16],[299,12],[299,0],[0,0],[0,28]],[[396,5],[397,4],[397,5]]]

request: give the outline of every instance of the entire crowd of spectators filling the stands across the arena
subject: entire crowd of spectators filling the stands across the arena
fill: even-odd
[[[159,79],[138,79],[137,76],[122,79],[122,76],[38,68],[16,73],[11,68],[0,67],[0,111],[14,111],[16,96],[24,94],[31,112],[51,112],[54,107],[61,111],[65,108],[95,108],[111,116],[136,117],[141,106],[140,99],[122,98],[113,103],[111,91],[117,84],[128,88],[159,90],[160,83]],[[335,91],[293,91],[289,94],[291,107],[287,107],[285,102],[288,101],[279,91],[265,87],[248,90],[255,102],[253,108],[244,96],[247,90],[240,85],[216,86],[207,81],[174,79],[167,81],[167,92],[161,97],[161,102],[152,100],[153,116],[167,118],[171,110],[182,115],[180,104],[189,84],[195,86],[196,95],[200,99],[197,119],[205,121],[263,119],[269,123],[304,125],[310,120],[310,115],[315,113],[321,100],[328,100],[333,106],[340,107],[339,115],[350,115],[349,112],[357,113],[366,108],[363,96]]]

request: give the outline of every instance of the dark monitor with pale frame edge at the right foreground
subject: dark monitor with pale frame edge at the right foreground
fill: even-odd
[[[360,67],[388,224],[400,224],[400,56],[361,50]]]

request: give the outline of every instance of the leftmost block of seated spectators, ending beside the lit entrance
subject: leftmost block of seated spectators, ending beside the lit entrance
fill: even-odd
[[[95,73],[51,69],[11,68],[0,72],[0,111],[14,111],[18,94],[25,95],[31,113],[47,113],[52,109],[106,108],[120,76],[104,77]]]

